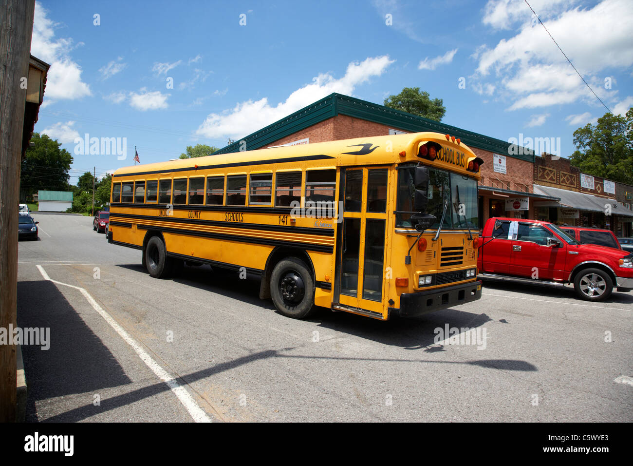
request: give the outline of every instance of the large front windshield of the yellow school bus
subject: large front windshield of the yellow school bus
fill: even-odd
[[[396,226],[410,228],[413,210],[413,167],[398,169],[398,207]],[[479,211],[477,200],[477,181],[468,176],[451,173],[445,170],[429,168],[429,203],[423,213],[437,217],[430,230],[437,230],[442,218],[444,202],[448,201],[448,209],[444,217],[444,230],[479,230]]]

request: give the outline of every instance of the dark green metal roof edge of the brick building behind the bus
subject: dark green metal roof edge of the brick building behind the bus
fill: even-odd
[[[510,143],[507,141],[337,93],[332,93],[308,105],[308,107],[301,108],[301,110],[292,113],[292,115],[288,115],[255,133],[249,134],[246,138],[240,139],[240,141],[246,141],[248,150],[259,149],[336,115],[348,115],[349,117],[373,121],[385,126],[391,126],[394,129],[411,131],[412,133],[434,131],[441,134],[450,134],[460,138],[468,146],[534,163],[534,153],[529,153],[528,149],[523,148],[522,151],[518,151],[523,153],[511,154],[508,149]],[[238,152],[240,141],[229,144],[215,152],[215,154]]]

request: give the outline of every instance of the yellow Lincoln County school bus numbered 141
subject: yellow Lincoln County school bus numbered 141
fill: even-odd
[[[454,136],[414,133],[125,167],[108,241],[155,278],[183,264],[258,278],[292,318],[415,316],[481,297],[481,164]]]

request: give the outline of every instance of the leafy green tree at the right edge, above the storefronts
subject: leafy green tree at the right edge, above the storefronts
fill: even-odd
[[[580,171],[633,184],[633,108],[626,117],[605,113],[596,126],[573,132],[577,150],[569,158]]]

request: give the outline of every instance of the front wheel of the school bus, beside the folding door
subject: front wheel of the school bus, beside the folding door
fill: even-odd
[[[308,266],[296,257],[277,262],[270,276],[270,297],[286,317],[310,316],[315,311],[315,283]]]

